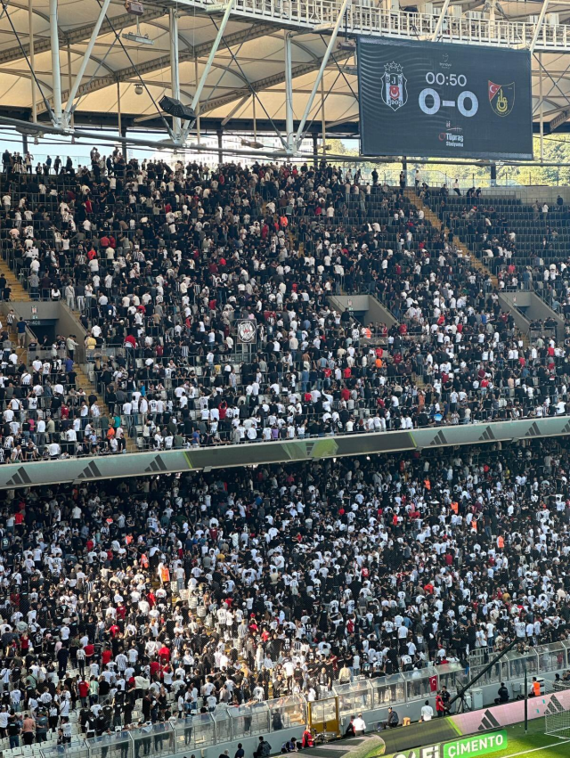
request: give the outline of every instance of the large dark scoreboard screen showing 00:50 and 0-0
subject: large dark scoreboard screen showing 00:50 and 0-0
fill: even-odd
[[[532,159],[531,55],[359,37],[362,155]]]

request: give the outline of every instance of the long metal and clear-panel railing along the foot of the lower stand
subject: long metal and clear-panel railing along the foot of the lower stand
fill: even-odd
[[[483,664],[481,664],[483,665]],[[552,642],[524,653],[517,649],[504,656],[480,683],[495,685],[501,681],[511,684],[529,676],[566,671],[570,667],[570,641]],[[473,666],[469,675],[478,672]],[[267,701],[250,701],[244,705],[217,705],[210,713],[192,713],[182,719],[172,718],[165,723],[147,724],[139,729],[118,731],[97,738],[74,738],[69,746],[41,748],[41,758],[60,758],[73,754],[77,758],[145,758],[167,756],[224,745],[256,735],[269,735],[282,729],[298,727],[299,733],[320,705],[336,702],[341,720],[353,713],[362,713],[369,729],[374,727],[372,712],[435,697],[446,687],[453,695],[458,686],[465,686],[468,671],[461,664],[427,666],[411,672],[400,672],[376,679],[359,677],[345,684],[334,684],[325,699],[307,703],[301,694]],[[513,690],[515,686],[513,685]],[[378,716],[376,717],[378,718]],[[314,718],[313,718],[314,721]]]

